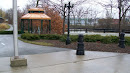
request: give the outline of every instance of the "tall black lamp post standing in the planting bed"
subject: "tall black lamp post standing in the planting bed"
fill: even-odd
[[[65,4],[65,7],[68,8],[68,34],[66,39],[66,45],[68,45],[71,43],[69,27],[70,27],[70,9],[73,8],[73,5],[70,5],[69,2],[68,4]]]

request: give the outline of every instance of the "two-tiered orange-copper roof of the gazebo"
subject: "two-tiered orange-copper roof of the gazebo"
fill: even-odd
[[[28,13],[21,17],[21,19],[40,19],[40,20],[51,20],[45,13],[39,13],[38,11],[44,11],[42,8],[31,8],[28,11],[37,11],[34,13]]]

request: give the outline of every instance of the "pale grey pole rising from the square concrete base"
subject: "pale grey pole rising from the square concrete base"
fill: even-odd
[[[18,57],[18,27],[17,27],[17,0],[13,0],[13,35],[14,35],[14,56]]]

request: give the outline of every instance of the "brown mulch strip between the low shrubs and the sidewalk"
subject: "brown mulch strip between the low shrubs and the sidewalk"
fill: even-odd
[[[37,40],[37,42],[46,42],[53,44],[54,47],[60,48],[70,48],[76,49],[77,42],[72,42],[69,45],[66,45],[65,42],[60,42],[58,40]],[[118,44],[103,44],[100,42],[84,42],[84,48],[88,51],[103,51],[103,52],[118,52],[118,53],[129,53],[130,46],[125,48],[118,47]]]

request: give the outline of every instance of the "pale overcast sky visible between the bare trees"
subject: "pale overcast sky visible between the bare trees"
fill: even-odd
[[[53,0],[53,1],[56,1],[56,0]],[[76,1],[76,0],[73,0],[73,1]],[[105,17],[105,14],[106,14],[105,9],[101,5],[98,5],[97,2],[103,2],[107,4],[109,3],[109,0],[90,0],[89,3],[86,2],[82,4],[81,6],[84,8],[86,6],[90,6],[91,9],[98,10],[100,12],[98,17]],[[22,9],[28,3],[28,0],[17,0],[17,3],[18,3],[17,5],[19,6],[19,8]],[[12,0],[0,0],[0,8],[2,8],[2,10],[4,11],[9,8],[12,8]],[[114,12],[116,13],[117,10],[114,10]],[[115,18],[118,18],[117,14],[115,15]]]

